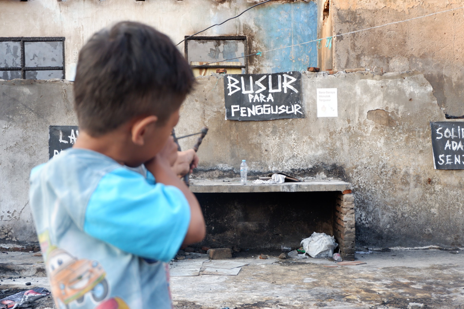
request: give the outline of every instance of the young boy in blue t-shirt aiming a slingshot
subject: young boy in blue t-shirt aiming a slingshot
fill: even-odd
[[[118,23],[82,48],[79,138],[30,180],[57,308],[171,308],[166,262],[205,236],[200,205],[172,169],[170,133],[193,83],[169,38],[143,24]]]

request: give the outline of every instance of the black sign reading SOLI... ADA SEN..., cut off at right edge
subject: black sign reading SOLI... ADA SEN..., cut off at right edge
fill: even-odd
[[[436,170],[464,170],[464,122],[431,122]]]

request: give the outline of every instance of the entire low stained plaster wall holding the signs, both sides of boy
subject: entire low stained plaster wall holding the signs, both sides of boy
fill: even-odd
[[[194,176],[238,179],[246,159],[252,175],[340,177],[354,187],[358,246],[463,246],[464,171],[433,169],[429,122],[445,118],[422,74],[308,73],[302,88],[305,119],[226,121],[222,80],[198,78],[176,127],[210,128]],[[317,118],[316,88],[338,89],[338,117]],[[76,125],[72,84],[1,81],[0,95],[0,243],[31,242],[29,172],[48,159],[48,126]]]

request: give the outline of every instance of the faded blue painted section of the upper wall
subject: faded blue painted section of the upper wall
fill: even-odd
[[[313,1],[265,4],[257,8],[254,25],[259,28],[255,40],[264,45],[261,51],[316,40],[317,4]],[[317,44],[269,51],[258,61],[267,63],[262,73],[306,70],[317,66]]]

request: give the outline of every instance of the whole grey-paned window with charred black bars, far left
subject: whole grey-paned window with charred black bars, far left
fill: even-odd
[[[64,40],[0,37],[0,79],[64,79]]]

